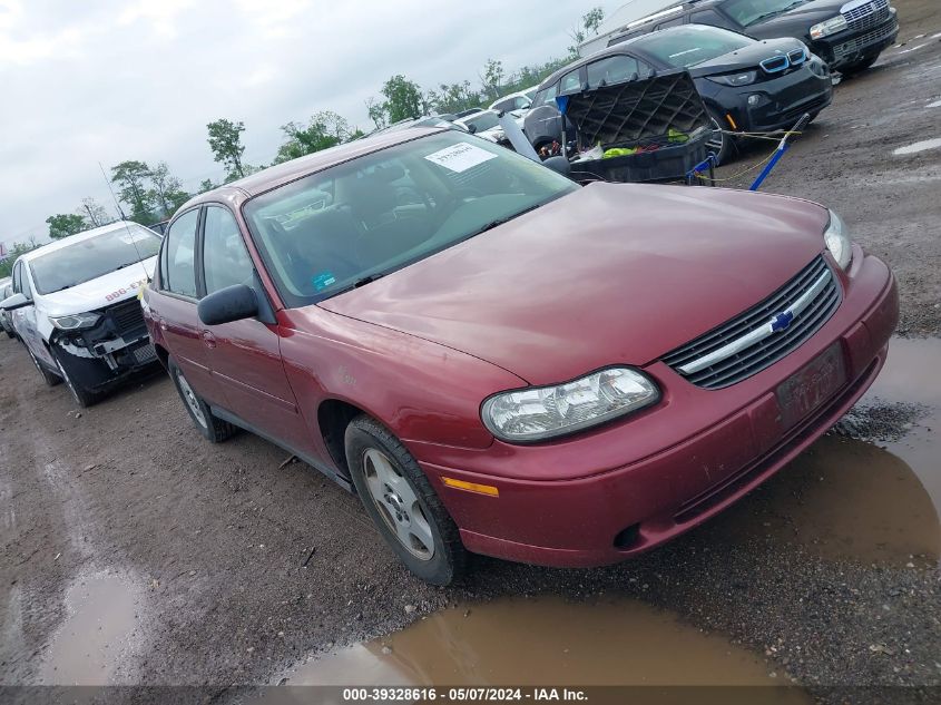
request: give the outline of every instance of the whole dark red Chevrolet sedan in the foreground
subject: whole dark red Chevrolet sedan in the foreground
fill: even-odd
[[[782,196],[579,187],[441,129],[197,196],[144,296],[210,441],[356,492],[418,576],[621,560],[784,467],[865,391],[889,268]]]

